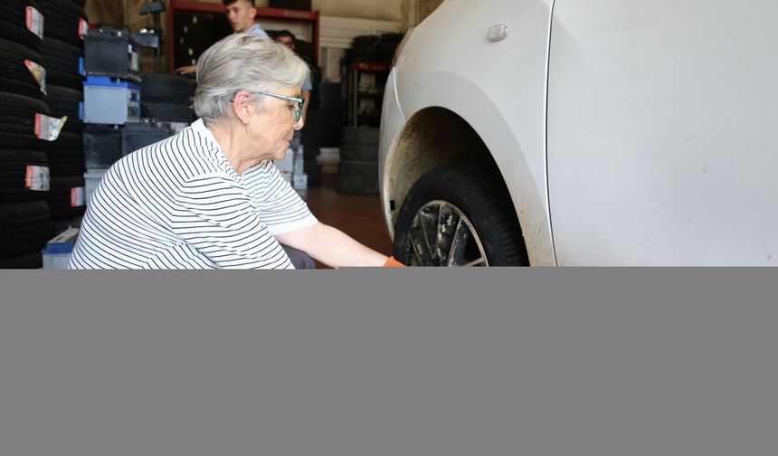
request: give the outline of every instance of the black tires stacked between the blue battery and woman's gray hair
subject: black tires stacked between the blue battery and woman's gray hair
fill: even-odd
[[[159,122],[194,121],[194,81],[171,74],[140,75],[141,117]]]

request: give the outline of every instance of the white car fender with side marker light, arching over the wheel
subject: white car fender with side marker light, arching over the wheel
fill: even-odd
[[[544,134],[550,8],[551,0],[448,0],[414,29],[394,66],[395,85],[384,93],[379,159],[390,232],[392,211],[385,195],[403,122],[439,107],[474,128],[502,175],[509,176],[530,261],[555,264]],[[498,24],[510,32],[489,42],[489,28]],[[439,33],[441,28],[451,33]]]

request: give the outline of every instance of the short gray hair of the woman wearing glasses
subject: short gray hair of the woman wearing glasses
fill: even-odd
[[[299,87],[308,65],[280,43],[252,33],[235,33],[213,44],[197,61],[194,113],[208,123],[232,115],[238,90],[276,90]]]

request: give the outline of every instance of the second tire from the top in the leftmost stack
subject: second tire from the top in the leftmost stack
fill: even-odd
[[[43,67],[43,58],[38,52],[21,44],[0,39],[0,91],[42,100],[41,84],[35,80],[25,61]]]

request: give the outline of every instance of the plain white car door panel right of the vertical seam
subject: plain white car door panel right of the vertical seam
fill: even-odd
[[[776,17],[759,0],[556,1],[560,265],[774,263]]]

